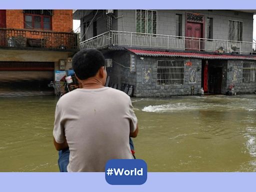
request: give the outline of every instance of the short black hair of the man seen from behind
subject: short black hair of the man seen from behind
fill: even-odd
[[[101,66],[105,65],[103,54],[97,49],[85,48],[76,52],[72,58],[72,67],[76,76],[87,79],[94,76]]]

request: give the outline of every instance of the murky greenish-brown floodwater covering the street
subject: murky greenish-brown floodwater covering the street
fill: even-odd
[[[54,96],[0,97],[0,171],[58,171]],[[256,171],[256,95],[132,98],[148,171]],[[113,117],[114,118],[114,117]]]

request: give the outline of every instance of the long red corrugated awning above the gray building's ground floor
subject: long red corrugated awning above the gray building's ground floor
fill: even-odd
[[[251,55],[230,55],[230,54],[207,54],[195,52],[166,52],[153,50],[128,49],[129,51],[141,56],[179,56],[188,58],[202,59],[239,59],[239,60],[256,60],[256,56]]]

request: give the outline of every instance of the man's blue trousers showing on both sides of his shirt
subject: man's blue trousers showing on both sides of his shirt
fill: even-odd
[[[134,150],[134,144],[132,139],[129,137],[130,149]],[[134,154],[132,154],[135,158]],[[60,172],[67,172],[67,164],[69,162],[69,149],[63,149],[58,151],[58,167]]]

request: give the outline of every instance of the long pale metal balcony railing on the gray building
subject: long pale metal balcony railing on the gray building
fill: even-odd
[[[209,52],[237,52],[240,54],[256,52],[255,42],[192,38],[185,36],[124,31],[108,31],[80,42],[80,48],[102,48],[109,45]]]

